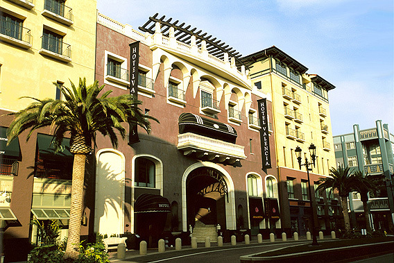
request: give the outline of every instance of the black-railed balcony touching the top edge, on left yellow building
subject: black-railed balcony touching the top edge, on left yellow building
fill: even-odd
[[[67,26],[74,24],[72,9],[60,1],[45,0],[41,14]]]

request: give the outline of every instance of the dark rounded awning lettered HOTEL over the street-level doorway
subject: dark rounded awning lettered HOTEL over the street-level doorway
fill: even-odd
[[[171,212],[171,205],[167,198],[158,194],[142,194],[134,203],[134,212]]]

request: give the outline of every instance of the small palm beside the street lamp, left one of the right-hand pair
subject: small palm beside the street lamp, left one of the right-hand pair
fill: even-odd
[[[345,222],[345,232],[346,235],[350,235],[350,219],[348,212],[348,196],[352,192],[352,177],[350,174],[349,167],[341,167],[338,169],[329,169],[329,176],[327,178],[320,178],[318,182],[318,187],[316,191],[323,189],[330,189],[338,191],[339,196],[341,196],[341,207],[343,210],[343,221]]]

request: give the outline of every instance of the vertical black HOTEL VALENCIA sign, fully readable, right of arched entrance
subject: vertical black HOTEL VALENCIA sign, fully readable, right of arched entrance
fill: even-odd
[[[262,169],[271,168],[270,139],[268,133],[267,100],[259,99],[260,142],[262,143]]]

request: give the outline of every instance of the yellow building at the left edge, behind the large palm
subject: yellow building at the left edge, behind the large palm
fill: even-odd
[[[21,96],[59,99],[60,92],[53,83],[69,87],[69,80],[78,84],[79,77],[93,83],[96,14],[96,0],[0,0],[1,142],[6,142],[6,128],[12,121],[6,114],[33,102],[19,99]],[[40,131],[47,132],[49,129]],[[35,239],[31,214],[38,219],[61,219],[68,225],[71,178],[66,180],[60,173],[53,173],[55,177],[42,179],[37,174],[47,175],[50,170],[46,168],[51,165],[53,171],[59,171],[64,164],[69,167],[72,156],[62,155],[61,161],[53,165],[54,155],[42,154],[50,148],[50,136],[34,133],[25,141],[23,134],[19,141],[10,146],[1,144],[0,149],[0,193],[8,197],[0,202],[0,208],[8,211],[9,219],[15,219],[7,221],[4,251],[0,244],[0,254],[4,252],[10,262],[27,258],[30,242]],[[39,169],[39,160],[44,169]],[[44,209],[46,214],[40,214]],[[62,230],[64,235],[67,227]]]

